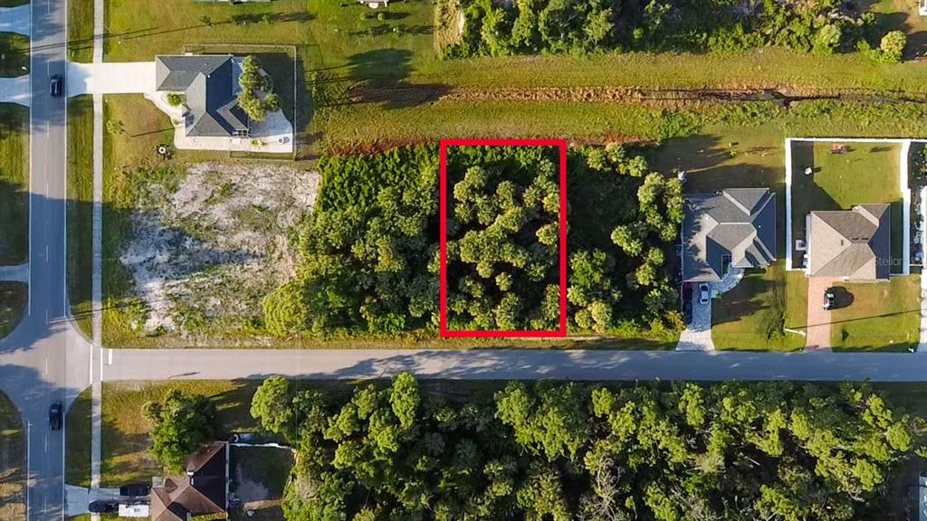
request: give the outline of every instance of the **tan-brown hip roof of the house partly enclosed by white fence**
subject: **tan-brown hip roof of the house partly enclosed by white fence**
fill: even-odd
[[[807,216],[808,276],[888,280],[892,265],[891,210],[887,204]]]

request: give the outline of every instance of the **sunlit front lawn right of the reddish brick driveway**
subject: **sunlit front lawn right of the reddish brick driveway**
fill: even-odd
[[[839,284],[852,303],[832,311],[834,350],[907,351],[917,348],[921,327],[920,275],[887,283]]]

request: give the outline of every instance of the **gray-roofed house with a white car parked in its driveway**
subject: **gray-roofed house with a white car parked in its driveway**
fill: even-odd
[[[717,282],[730,266],[766,268],[776,260],[776,196],[767,188],[728,188],[686,196],[682,279]]]

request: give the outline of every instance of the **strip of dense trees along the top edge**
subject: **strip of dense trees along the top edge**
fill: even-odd
[[[446,23],[457,23],[446,11],[464,15],[463,34],[444,49],[446,57],[764,45],[830,54],[881,37],[873,15],[840,0],[441,0],[438,9]]]

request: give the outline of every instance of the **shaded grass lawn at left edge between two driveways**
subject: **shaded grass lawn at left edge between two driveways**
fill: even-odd
[[[29,256],[29,108],[0,103],[0,265]]]

